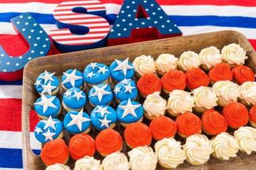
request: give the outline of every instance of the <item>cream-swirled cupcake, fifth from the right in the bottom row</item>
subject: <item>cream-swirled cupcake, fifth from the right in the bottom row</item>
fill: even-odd
[[[154,170],[158,163],[158,157],[149,146],[133,148],[128,153],[131,170]]]

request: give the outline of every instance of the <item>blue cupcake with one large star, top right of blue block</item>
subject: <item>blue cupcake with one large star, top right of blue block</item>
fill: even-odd
[[[131,62],[128,62],[129,58],[125,60],[115,60],[110,65],[110,75],[115,83],[122,81],[123,79],[131,79],[134,76],[134,69]]]

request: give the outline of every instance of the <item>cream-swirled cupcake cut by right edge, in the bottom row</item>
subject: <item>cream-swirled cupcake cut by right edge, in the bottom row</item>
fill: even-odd
[[[252,152],[256,152],[256,129],[246,126],[238,128],[234,132],[234,138],[238,144],[238,148],[243,153],[250,155]]]

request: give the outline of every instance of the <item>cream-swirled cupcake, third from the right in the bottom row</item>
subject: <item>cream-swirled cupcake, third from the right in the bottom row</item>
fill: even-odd
[[[187,161],[191,165],[203,165],[214,152],[212,149],[212,140],[209,140],[203,134],[194,134],[189,136],[183,149],[187,155]]]

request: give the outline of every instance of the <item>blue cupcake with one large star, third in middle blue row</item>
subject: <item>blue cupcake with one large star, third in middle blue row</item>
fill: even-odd
[[[96,105],[110,105],[113,100],[113,93],[108,84],[94,85],[88,95],[89,101],[94,108]]]

